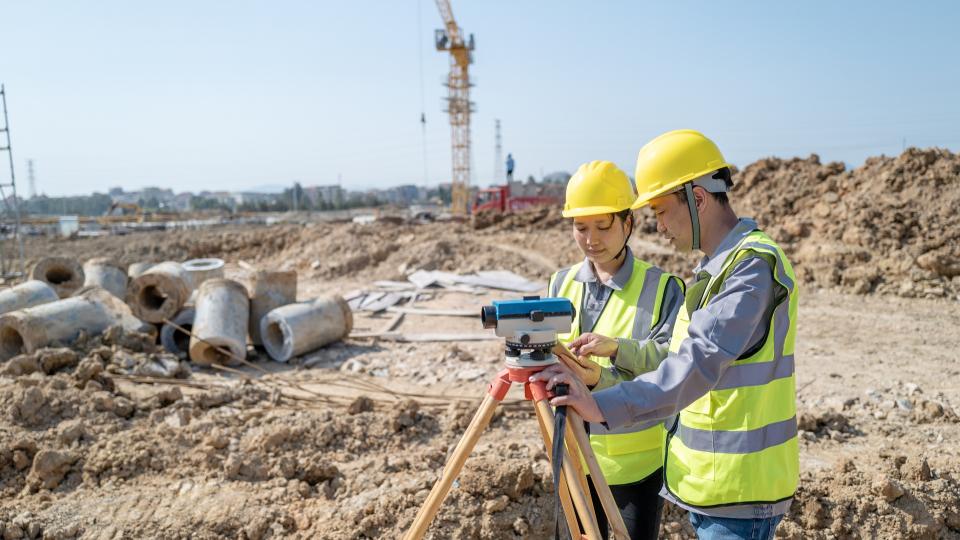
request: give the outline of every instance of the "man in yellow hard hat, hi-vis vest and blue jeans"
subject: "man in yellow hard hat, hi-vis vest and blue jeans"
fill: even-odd
[[[705,254],[663,363],[592,395],[562,366],[531,379],[569,384],[551,403],[610,429],[676,415],[661,496],[690,512],[701,539],[773,538],[799,476],[798,291],[780,247],[730,207],[729,167],[692,130],[660,135],[637,158],[633,208],[649,204],[678,251]]]

